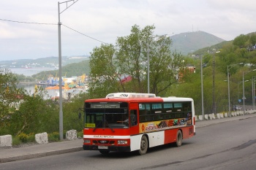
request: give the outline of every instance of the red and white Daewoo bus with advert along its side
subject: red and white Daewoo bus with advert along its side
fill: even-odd
[[[83,150],[138,151],[195,135],[192,98],[161,98],[152,93],[110,93],[84,105]]]

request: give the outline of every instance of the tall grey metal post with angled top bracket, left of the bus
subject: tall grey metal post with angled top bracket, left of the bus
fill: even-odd
[[[72,1],[72,4],[75,4],[78,0],[69,0]],[[72,4],[69,4],[69,1],[58,1],[58,40],[59,40],[59,139],[63,140],[63,111],[62,111],[62,76],[61,76],[61,13],[64,12],[66,9],[72,6]],[[60,4],[67,4],[67,7],[64,10],[60,10],[59,5]]]

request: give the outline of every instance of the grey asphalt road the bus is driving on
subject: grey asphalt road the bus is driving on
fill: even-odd
[[[197,128],[181,147],[154,147],[146,155],[134,152],[80,151],[1,163],[0,169],[255,169],[256,117]]]

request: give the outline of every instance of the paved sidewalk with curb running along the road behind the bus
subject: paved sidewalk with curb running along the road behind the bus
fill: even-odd
[[[235,121],[256,117],[256,114],[244,115],[237,117],[227,117],[215,120],[202,120],[195,123],[196,128],[202,128],[207,125],[214,125],[218,123],[225,123],[227,121]],[[53,142],[48,144],[34,144],[28,147],[10,147],[0,149],[0,163],[10,161],[20,161],[31,158],[39,158],[49,155],[59,155],[68,152],[78,152],[83,150],[83,139],[76,139],[72,141]]]

